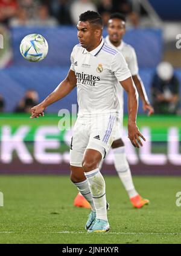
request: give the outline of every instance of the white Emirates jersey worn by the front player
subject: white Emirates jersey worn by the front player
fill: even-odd
[[[77,44],[71,53],[71,70],[77,77],[78,115],[118,111],[118,81],[132,76],[121,53],[103,38],[91,52]]]

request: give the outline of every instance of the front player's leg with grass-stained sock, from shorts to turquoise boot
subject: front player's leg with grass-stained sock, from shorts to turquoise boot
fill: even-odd
[[[83,158],[84,174],[89,183],[90,192],[96,209],[96,220],[88,232],[106,232],[107,220],[106,184],[99,165],[106,156],[115,137],[116,113],[98,115],[92,118],[89,144]]]

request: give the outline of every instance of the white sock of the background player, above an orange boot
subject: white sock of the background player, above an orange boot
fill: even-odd
[[[132,173],[130,171],[129,163],[125,156],[125,147],[116,147],[113,149],[115,169],[118,172],[119,178],[125,187],[125,190],[129,194],[129,197],[135,197],[138,192],[135,190],[135,186],[132,180]]]

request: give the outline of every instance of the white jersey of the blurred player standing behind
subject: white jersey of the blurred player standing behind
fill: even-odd
[[[106,38],[104,38],[104,41],[106,42],[106,44],[110,45],[118,52],[122,53],[122,55],[125,58],[125,61],[128,64],[132,76],[138,75],[138,62],[136,58],[135,49],[130,44],[126,44],[124,41],[122,41],[118,47],[115,47],[110,42],[109,36],[106,36]],[[119,101],[119,110],[121,110],[123,108],[123,88],[120,87],[119,84],[117,86],[117,95]]]

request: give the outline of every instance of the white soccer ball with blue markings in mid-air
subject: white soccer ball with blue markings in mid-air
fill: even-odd
[[[48,53],[48,42],[42,35],[27,35],[21,41],[20,52],[27,61],[42,61]]]

